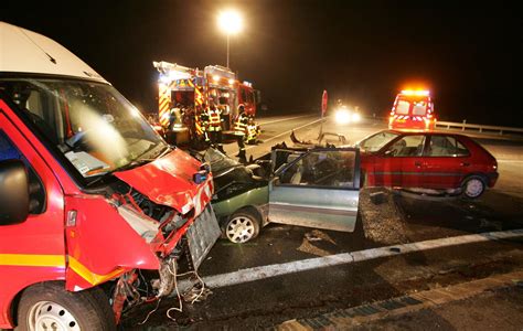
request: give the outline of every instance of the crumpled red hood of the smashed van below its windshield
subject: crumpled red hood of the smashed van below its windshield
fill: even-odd
[[[158,204],[171,206],[182,214],[195,206],[198,215],[212,196],[211,174],[201,184],[193,181],[200,167],[198,160],[174,149],[163,158],[115,175]]]

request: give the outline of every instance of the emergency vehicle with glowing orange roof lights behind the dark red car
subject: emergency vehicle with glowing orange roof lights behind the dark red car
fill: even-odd
[[[404,89],[394,100],[388,117],[389,129],[433,130],[436,122],[430,93],[425,89]]]

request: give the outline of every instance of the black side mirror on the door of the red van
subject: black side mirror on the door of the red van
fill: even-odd
[[[29,179],[19,160],[0,162],[0,225],[24,222],[29,215]]]

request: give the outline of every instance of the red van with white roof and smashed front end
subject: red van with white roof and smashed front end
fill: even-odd
[[[0,22],[0,328],[111,330],[220,236],[209,167],[56,42]]]

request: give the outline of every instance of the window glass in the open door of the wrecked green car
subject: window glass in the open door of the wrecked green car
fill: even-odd
[[[280,175],[280,184],[353,188],[354,151],[312,151]]]

